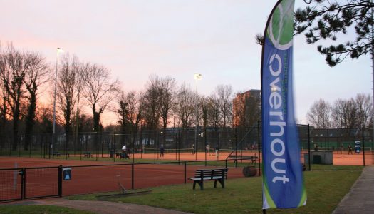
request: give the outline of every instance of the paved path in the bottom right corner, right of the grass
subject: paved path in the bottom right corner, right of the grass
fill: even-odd
[[[342,213],[374,213],[374,165],[363,169],[349,193],[333,211],[333,214]]]

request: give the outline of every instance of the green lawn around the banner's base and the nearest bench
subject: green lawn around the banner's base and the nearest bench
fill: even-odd
[[[266,213],[331,213],[360,175],[361,170],[319,170],[306,172],[307,205],[298,209],[271,209]],[[192,184],[150,188],[152,193],[131,197],[72,196],[74,200],[110,200],[136,203],[190,213],[262,213],[261,178],[227,180],[225,189],[204,184],[203,191]],[[105,194],[100,194],[105,195]]]

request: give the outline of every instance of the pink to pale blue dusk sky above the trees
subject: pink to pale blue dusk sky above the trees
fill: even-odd
[[[56,48],[109,68],[125,91],[140,91],[151,74],[170,76],[209,96],[218,85],[234,93],[261,87],[262,34],[276,0],[0,0],[1,46],[38,51],[51,65]],[[305,7],[296,0],[295,9]],[[354,34],[338,37],[354,39]],[[324,43],[324,44],[329,44]],[[294,38],[296,120],[306,123],[322,98],[372,94],[370,56],[329,67],[316,45]],[[115,123],[104,118],[103,123]]]

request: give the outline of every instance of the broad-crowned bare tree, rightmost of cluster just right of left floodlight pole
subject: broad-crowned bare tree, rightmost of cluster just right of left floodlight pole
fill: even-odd
[[[100,116],[118,95],[118,81],[110,80],[110,72],[103,66],[91,64],[83,75],[83,97],[93,112],[93,131],[100,131]]]

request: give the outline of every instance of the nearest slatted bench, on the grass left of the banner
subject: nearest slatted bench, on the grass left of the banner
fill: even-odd
[[[213,168],[213,169],[198,169],[194,173],[193,178],[188,178],[194,181],[193,189],[196,183],[200,186],[200,190],[204,190],[204,180],[214,180],[214,188],[217,187],[217,181],[221,183],[224,188],[224,180],[227,179],[227,168]]]

